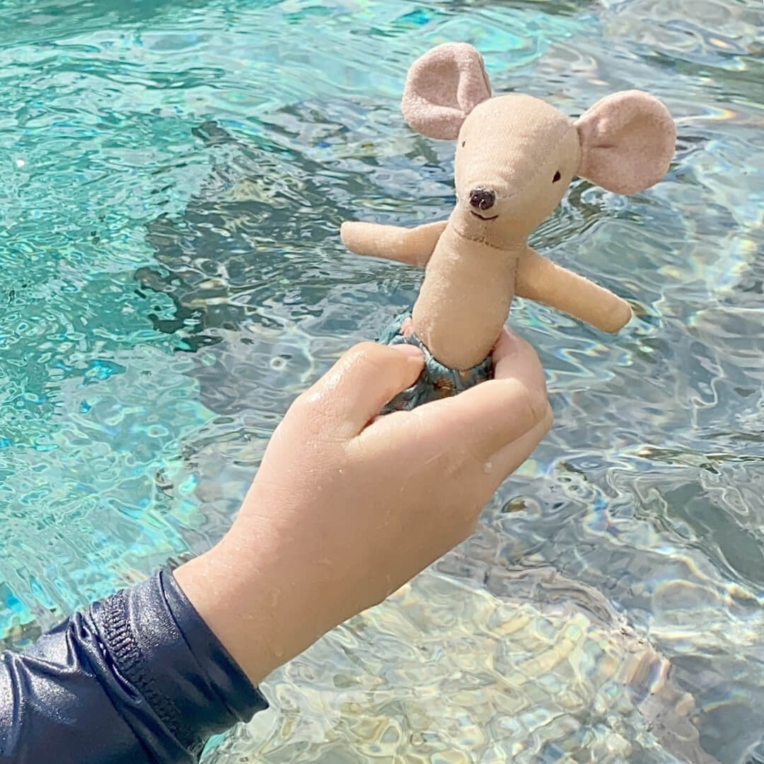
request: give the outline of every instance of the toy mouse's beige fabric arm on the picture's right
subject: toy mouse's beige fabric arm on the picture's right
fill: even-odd
[[[530,247],[520,257],[515,276],[517,296],[562,310],[604,332],[617,332],[631,319],[626,300],[578,276]]]

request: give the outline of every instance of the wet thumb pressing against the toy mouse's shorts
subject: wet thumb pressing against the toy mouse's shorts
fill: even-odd
[[[351,348],[306,393],[312,405],[336,427],[354,438],[383,406],[416,382],[424,356],[413,345],[362,342]]]

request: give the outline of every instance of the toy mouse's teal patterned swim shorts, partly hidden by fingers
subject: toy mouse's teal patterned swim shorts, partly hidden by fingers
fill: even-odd
[[[403,325],[411,318],[411,312],[403,313],[385,329],[379,338],[383,345],[401,345],[407,342],[409,345],[416,345],[425,356],[425,367],[419,379],[403,393],[398,393],[382,413],[387,414],[392,411],[409,411],[422,403],[429,403],[431,400],[439,398],[448,398],[449,396],[461,393],[473,387],[478,382],[489,380],[494,375],[494,361],[489,355],[477,366],[473,366],[466,371],[449,369],[447,366],[435,361],[432,353],[426,348],[426,345],[411,331],[403,331]]]

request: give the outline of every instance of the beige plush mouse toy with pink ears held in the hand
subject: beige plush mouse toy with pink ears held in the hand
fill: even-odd
[[[447,221],[417,228],[342,224],[351,251],[426,269],[413,311],[380,337],[418,345],[426,367],[386,411],[411,409],[490,378],[491,353],[515,295],[606,332],[626,325],[626,301],[527,242],[574,176],[621,194],[665,176],[676,131],[658,99],[639,90],[616,92],[573,120],[530,95],[491,97],[478,50],[448,43],[413,64],[402,110],[420,134],[456,140],[457,203]]]

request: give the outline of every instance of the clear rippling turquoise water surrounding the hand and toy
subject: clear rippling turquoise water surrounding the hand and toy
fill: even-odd
[[[759,0],[3,3],[4,643],[205,549],[290,400],[410,305],[338,225],[448,213],[452,147],[398,100],[468,40],[497,91],[669,104],[668,180],[578,183],[535,237],[637,318],[518,301],[552,434],[206,761],[764,761],[762,29]]]

